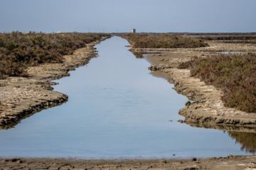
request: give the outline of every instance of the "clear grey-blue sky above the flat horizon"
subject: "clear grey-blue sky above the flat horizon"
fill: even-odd
[[[256,32],[255,0],[1,0],[0,32]]]

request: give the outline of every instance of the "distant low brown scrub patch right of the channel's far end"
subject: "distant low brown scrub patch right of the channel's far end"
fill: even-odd
[[[132,48],[196,48],[209,46],[201,39],[171,34],[148,35],[145,33],[128,33],[122,35],[122,37],[126,38],[133,45]]]

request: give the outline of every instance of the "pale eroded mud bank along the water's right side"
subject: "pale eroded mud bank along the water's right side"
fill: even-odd
[[[235,125],[256,127],[256,113],[245,113],[235,108],[223,106],[220,96],[222,91],[213,86],[206,85],[203,81],[190,77],[190,70],[177,69],[178,64],[190,60],[192,56],[211,55],[216,52],[254,52],[255,44],[208,42],[210,47],[196,49],[165,49],[159,54],[146,55],[151,62],[149,69],[152,74],[159,77],[168,77],[168,81],[175,85],[178,94],[187,96],[192,103],[187,102],[181,108],[180,115],[185,120],[181,123],[196,123],[208,125]],[[132,52],[155,51],[156,49],[129,49]],[[162,50],[162,49],[159,49]],[[162,75],[162,76],[161,76]],[[168,76],[167,76],[168,75]]]

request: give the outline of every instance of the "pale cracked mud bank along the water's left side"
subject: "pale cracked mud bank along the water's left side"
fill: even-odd
[[[102,38],[105,39],[107,37]],[[68,77],[70,70],[75,70],[89,63],[91,58],[97,57],[93,46],[99,42],[92,42],[87,47],[76,50],[73,55],[64,56],[63,63],[28,67],[29,77],[0,80],[0,128],[14,127],[33,113],[68,101],[68,96],[53,91],[51,86],[55,83],[51,81]]]

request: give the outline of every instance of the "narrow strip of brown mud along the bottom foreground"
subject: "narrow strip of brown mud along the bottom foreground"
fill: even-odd
[[[256,156],[211,157],[208,159],[0,159],[1,169],[256,169]]]

